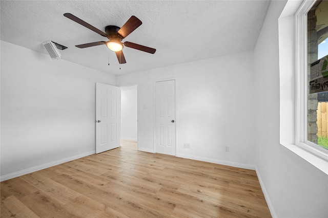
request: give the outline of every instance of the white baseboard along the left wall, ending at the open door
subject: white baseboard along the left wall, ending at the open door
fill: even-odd
[[[28,168],[28,169],[23,169],[23,170],[20,170],[20,171],[17,171],[17,172],[12,172],[12,173],[9,173],[7,175],[1,176],[0,181],[2,182],[2,181],[5,181],[5,180],[15,178],[15,177],[20,177],[20,176],[26,175],[26,174],[31,173],[31,172],[35,172],[35,171],[38,171],[38,170],[41,170],[41,169],[56,166],[58,164],[66,163],[68,161],[76,160],[76,159],[83,158],[83,157],[86,157],[86,156],[89,156],[89,155],[93,155],[93,154],[95,154],[95,152],[96,152],[95,150],[92,150],[92,151],[88,151],[88,152],[85,152],[83,154],[75,155],[75,156],[72,156],[72,157],[69,157],[69,158],[64,158],[64,159],[61,159],[61,160],[58,160],[58,161],[53,161],[53,162],[42,164],[42,165],[39,165],[39,166],[34,166],[34,167],[31,167],[31,168]]]

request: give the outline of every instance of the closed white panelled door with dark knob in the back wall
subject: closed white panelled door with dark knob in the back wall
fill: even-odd
[[[155,83],[156,152],[175,155],[175,81]]]

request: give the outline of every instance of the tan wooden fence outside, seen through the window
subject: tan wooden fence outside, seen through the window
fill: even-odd
[[[318,125],[318,136],[328,136],[328,102],[318,102],[317,109],[317,125]]]

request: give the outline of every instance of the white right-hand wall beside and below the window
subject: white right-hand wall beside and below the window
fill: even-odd
[[[285,116],[279,114],[279,105],[288,97],[283,96],[284,92],[279,88],[289,86],[291,90],[295,87],[294,80],[286,79],[285,75],[279,77],[278,34],[281,32],[278,32],[278,17],[285,4],[286,1],[271,2],[254,51],[255,84],[259,90],[256,92],[255,119],[257,172],[274,216],[328,217],[327,175],[279,142],[279,119],[280,116]],[[293,37],[288,38],[291,38],[290,45],[294,45]],[[284,38],[284,43],[288,38]],[[286,81],[289,83],[284,84]],[[287,94],[295,98],[290,95],[291,92]],[[280,95],[283,98],[281,100]],[[288,102],[295,102],[295,99]],[[281,113],[294,111],[295,105],[286,102],[281,105],[285,106],[281,108]],[[294,119],[288,120],[293,122]],[[288,126],[295,128],[293,123]],[[295,129],[289,133],[294,134]],[[283,140],[286,138],[284,135],[282,134]]]

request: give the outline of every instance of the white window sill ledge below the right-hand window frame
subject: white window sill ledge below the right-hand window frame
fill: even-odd
[[[288,148],[292,152],[294,152],[299,157],[303,158],[305,161],[308,161],[310,164],[324,172],[328,175],[328,162],[314,154],[311,154],[309,151],[302,149],[301,147],[295,144],[281,144],[284,147]]]

